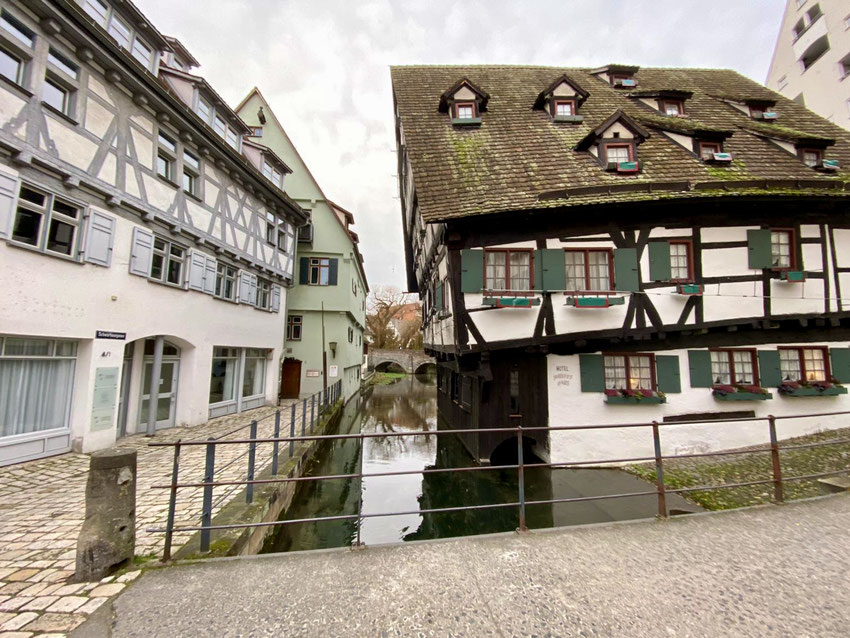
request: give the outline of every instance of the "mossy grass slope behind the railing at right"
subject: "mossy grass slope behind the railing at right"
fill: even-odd
[[[779,459],[783,478],[839,470],[850,472],[850,443],[836,443],[816,448],[782,449],[784,446],[846,439],[850,439],[850,428],[818,432],[781,441]],[[734,456],[677,459],[664,462],[664,484],[667,489],[679,489],[770,480],[773,478],[772,467],[769,451]],[[624,469],[647,481],[655,482],[654,463],[631,465]],[[785,500],[809,498],[823,494],[820,485],[814,479],[784,482],[784,492]],[[709,510],[733,509],[772,502],[773,486],[764,484],[720,490],[702,490],[686,492],[682,495]]]

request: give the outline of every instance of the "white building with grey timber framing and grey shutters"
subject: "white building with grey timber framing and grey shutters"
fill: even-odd
[[[308,217],[196,65],[131,2],[0,2],[0,464],[277,399]]]

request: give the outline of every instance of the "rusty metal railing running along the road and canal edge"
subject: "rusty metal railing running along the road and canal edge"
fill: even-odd
[[[402,515],[415,515],[415,514],[436,514],[436,513],[444,513],[444,512],[461,512],[461,511],[473,511],[473,510],[485,510],[485,509],[498,509],[498,508],[516,508],[517,510],[517,522],[518,528],[517,531],[525,532],[528,530],[526,526],[526,508],[532,505],[554,505],[558,503],[578,503],[578,502],[587,502],[587,501],[601,501],[608,499],[618,499],[618,498],[627,498],[627,497],[638,497],[638,496],[655,496],[658,502],[658,517],[667,518],[668,516],[668,508],[667,508],[667,495],[668,494],[685,494],[688,492],[701,492],[701,491],[711,491],[711,490],[721,490],[721,489],[734,489],[741,487],[750,487],[756,485],[773,485],[773,500],[776,503],[783,503],[785,500],[784,495],[784,484],[791,481],[803,481],[803,480],[813,480],[817,478],[823,478],[828,476],[837,476],[841,474],[847,474],[850,472],[850,467],[836,470],[836,471],[828,471],[828,472],[819,472],[814,474],[805,474],[805,475],[797,475],[797,476],[785,476],[782,471],[782,464],[780,459],[780,452],[782,450],[794,450],[794,449],[805,449],[805,448],[817,448],[824,447],[829,445],[837,445],[837,444],[845,444],[850,443],[850,438],[845,439],[829,439],[826,441],[819,441],[814,443],[805,443],[805,444],[797,444],[797,445],[780,445],[779,440],[776,435],[776,422],[780,420],[790,420],[790,419],[801,419],[801,418],[815,418],[815,417],[829,417],[829,416],[846,416],[850,415],[850,411],[842,411],[842,412],[819,412],[819,413],[808,413],[808,414],[794,414],[794,415],[786,415],[786,416],[765,416],[765,417],[744,417],[744,418],[730,418],[730,419],[704,419],[704,420],[696,420],[696,421],[684,421],[684,422],[664,422],[659,423],[658,421],[651,422],[639,422],[639,423],[616,423],[616,424],[588,424],[588,425],[572,425],[572,426],[546,426],[546,427],[523,427],[522,425],[517,425],[516,427],[509,428],[477,428],[477,429],[458,429],[458,430],[423,430],[416,432],[360,432],[357,434],[325,434],[325,435],[316,435],[316,434],[307,434],[304,430],[303,422],[302,422],[302,432],[301,436],[296,436],[294,432],[295,428],[295,418],[290,421],[290,435],[288,437],[279,437],[277,427],[277,423],[275,426],[275,436],[271,438],[257,438],[253,436],[252,438],[247,439],[210,439],[207,441],[177,441],[173,443],[159,443],[154,442],[150,443],[151,446],[159,446],[159,447],[174,447],[174,467],[171,474],[171,483],[162,484],[162,485],[153,485],[153,489],[167,489],[170,490],[170,501],[169,501],[169,510],[168,510],[168,522],[164,529],[162,528],[149,528],[148,532],[151,533],[165,533],[165,550],[163,553],[163,561],[167,561],[171,556],[171,543],[172,543],[172,535],[174,532],[200,532],[201,533],[201,552],[209,551],[210,547],[210,538],[211,533],[213,531],[222,531],[228,529],[253,529],[259,527],[271,527],[271,526],[279,526],[279,525],[294,525],[298,523],[316,523],[321,521],[343,521],[343,520],[354,520],[357,522],[356,524],[356,539],[353,543],[354,547],[358,547],[361,545],[360,538],[360,528],[362,525],[362,521],[367,518],[375,518],[375,517],[388,517],[388,516],[402,516]],[[276,421],[279,419],[279,412],[276,417]],[[700,452],[693,454],[663,454],[662,453],[662,445],[661,445],[661,430],[663,428],[682,428],[688,426],[696,426],[696,425],[717,425],[723,427],[729,427],[732,424],[740,424],[740,423],[753,423],[753,422],[767,422],[768,426],[768,440],[769,444],[764,446],[750,446],[746,448],[740,449],[731,449],[731,450],[720,450],[717,452]],[[312,421],[311,421],[312,423]],[[652,433],[652,441],[653,441],[653,454],[652,456],[642,456],[642,457],[628,457],[628,458],[604,458],[604,459],[592,459],[592,460],[582,460],[582,461],[571,461],[571,462],[560,462],[560,463],[526,463],[523,459],[523,435],[530,434],[534,432],[570,432],[570,431],[582,431],[582,430],[617,430],[617,429],[650,429]],[[251,432],[256,433],[255,422],[251,424]],[[417,470],[400,470],[400,471],[389,471],[389,472],[363,472],[363,443],[366,439],[378,439],[378,438],[397,438],[397,437],[417,437],[417,436],[468,436],[470,434],[478,434],[478,433],[512,433],[516,436],[517,441],[517,463],[509,464],[509,465],[478,465],[471,467],[452,467],[452,468],[423,468]],[[214,460],[215,460],[215,448],[220,445],[248,445],[249,446],[249,459],[253,459],[256,453],[256,448],[258,445],[271,445],[276,455],[278,451],[278,446],[283,444],[289,444],[290,456],[292,455],[293,445],[296,442],[306,442],[306,441],[338,441],[338,440],[346,440],[346,439],[358,439],[360,442],[360,450],[359,450],[359,465],[357,472],[351,472],[347,474],[332,474],[332,475],[322,475],[322,476],[292,476],[292,477],[277,477],[276,470],[276,456],[273,457],[272,460],[272,476],[273,478],[266,479],[257,479],[254,476],[253,471],[253,462],[249,463],[249,471],[248,476],[245,479],[237,479],[237,480],[216,480],[214,471]],[[206,446],[207,450],[207,465],[206,471],[204,473],[203,481],[188,481],[188,482],[179,482],[178,480],[178,471],[179,471],[179,458],[180,458],[180,449],[185,448],[187,446]],[[760,478],[757,480],[750,481],[739,481],[735,483],[722,483],[719,485],[698,485],[691,487],[681,487],[670,489],[665,485],[664,481],[664,462],[671,461],[676,459],[695,459],[695,458],[710,458],[717,456],[732,456],[739,454],[758,454],[758,453],[770,453],[771,458],[771,476],[769,478]],[[597,496],[580,496],[580,497],[570,497],[570,498],[549,498],[543,500],[527,500],[525,496],[525,470],[526,469],[536,469],[536,468],[552,468],[552,469],[566,469],[566,468],[577,468],[577,467],[587,467],[587,466],[612,466],[612,465],[626,465],[631,463],[649,463],[653,462],[655,465],[655,486],[652,490],[646,490],[641,492],[626,492],[626,493],[616,493],[616,494],[602,494]],[[484,503],[484,504],[470,504],[470,505],[460,505],[453,507],[436,507],[436,508],[427,508],[427,509],[417,509],[417,510],[405,510],[405,511],[387,511],[387,512],[374,512],[374,513],[366,513],[363,512],[363,499],[362,499],[362,488],[360,492],[360,497],[358,498],[357,505],[357,513],[356,514],[339,514],[334,516],[318,516],[311,518],[300,518],[300,519],[291,519],[291,520],[277,520],[277,521],[264,521],[258,523],[232,523],[232,524],[222,524],[222,525],[213,525],[210,515],[212,512],[212,507],[208,507],[209,504],[212,503],[212,491],[216,487],[228,487],[231,489],[237,489],[239,487],[246,487],[246,500],[248,503],[251,502],[253,497],[253,488],[255,485],[269,485],[276,483],[299,483],[299,482],[312,482],[312,481],[328,481],[328,480],[340,480],[340,479],[358,479],[362,481],[365,478],[372,477],[389,477],[389,476],[404,476],[411,474],[440,474],[440,473],[448,473],[448,472],[487,472],[487,471],[504,471],[504,470],[516,470],[517,472],[517,500],[511,501],[507,503]],[[190,526],[182,526],[175,527],[174,525],[174,513],[175,513],[175,503],[177,499],[177,492],[180,489],[186,488],[203,488],[204,490],[204,508],[203,514],[201,518],[200,525],[190,525]]]

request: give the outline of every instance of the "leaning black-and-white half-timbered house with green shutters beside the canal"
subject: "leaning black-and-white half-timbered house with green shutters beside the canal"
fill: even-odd
[[[408,285],[454,427],[850,409],[846,131],[725,70],[395,67],[392,82]],[[664,433],[679,453],[766,436]],[[512,436],[467,444],[487,459]],[[553,461],[651,455],[644,430],[526,436]]]

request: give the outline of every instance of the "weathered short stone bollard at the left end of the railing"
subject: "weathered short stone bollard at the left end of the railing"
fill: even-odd
[[[77,538],[78,582],[96,581],[127,566],[136,549],[136,451],[110,448],[91,455],[86,520]]]

